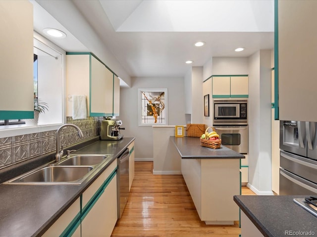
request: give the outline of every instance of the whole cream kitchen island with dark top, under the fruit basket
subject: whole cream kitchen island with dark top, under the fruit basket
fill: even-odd
[[[233,225],[239,208],[240,159],[243,155],[224,146],[202,147],[197,137],[170,136],[181,158],[181,172],[202,221],[207,225]]]

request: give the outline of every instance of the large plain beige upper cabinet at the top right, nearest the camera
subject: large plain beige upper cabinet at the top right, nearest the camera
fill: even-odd
[[[317,121],[317,1],[276,3],[278,64],[274,68],[278,75],[279,119]]]

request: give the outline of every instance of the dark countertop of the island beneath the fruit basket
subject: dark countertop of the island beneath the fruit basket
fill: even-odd
[[[170,136],[182,159],[223,159],[245,158],[245,156],[221,145],[219,149],[202,147],[199,137]]]

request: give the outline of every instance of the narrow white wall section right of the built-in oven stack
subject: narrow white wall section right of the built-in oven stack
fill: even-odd
[[[249,57],[249,184],[258,195],[271,191],[271,52]]]

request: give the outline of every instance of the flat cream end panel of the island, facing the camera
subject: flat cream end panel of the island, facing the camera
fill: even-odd
[[[239,159],[201,160],[201,219],[206,224],[233,225],[239,220],[239,208],[233,200],[240,194],[239,165]]]

